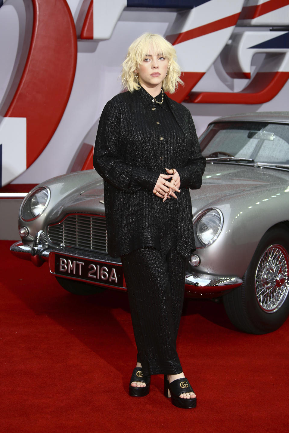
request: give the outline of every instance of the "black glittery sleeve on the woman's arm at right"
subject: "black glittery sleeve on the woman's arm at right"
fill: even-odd
[[[192,115],[188,110],[188,127],[191,136],[191,153],[185,167],[177,168],[181,180],[181,188],[198,189],[201,187],[202,175],[205,171],[206,159],[201,154],[198,136]]]

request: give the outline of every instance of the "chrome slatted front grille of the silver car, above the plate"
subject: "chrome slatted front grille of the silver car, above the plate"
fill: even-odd
[[[68,215],[48,226],[49,241],[55,245],[107,253],[105,218],[97,215]]]

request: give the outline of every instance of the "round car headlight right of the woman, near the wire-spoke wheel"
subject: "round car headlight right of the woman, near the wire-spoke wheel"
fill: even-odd
[[[221,233],[224,217],[221,210],[210,208],[199,212],[193,221],[199,241],[204,245],[211,245]]]

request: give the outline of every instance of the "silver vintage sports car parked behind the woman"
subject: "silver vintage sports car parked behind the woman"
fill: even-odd
[[[219,118],[200,143],[207,166],[201,189],[190,190],[197,249],[186,291],[222,299],[240,330],[271,332],[289,313],[289,112]],[[19,234],[13,254],[48,262],[66,290],[126,290],[120,259],[107,254],[96,171],[33,188],[19,210]]]

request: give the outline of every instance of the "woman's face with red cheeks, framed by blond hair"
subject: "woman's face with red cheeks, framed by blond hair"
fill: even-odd
[[[138,73],[140,84],[150,89],[161,86],[166,78],[168,63],[168,59],[162,54],[147,54],[135,71]]]

